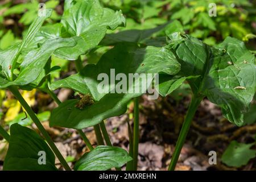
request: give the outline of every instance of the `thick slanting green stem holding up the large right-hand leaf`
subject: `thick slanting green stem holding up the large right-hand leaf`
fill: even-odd
[[[185,116],[183,125],[180,130],[179,138],[177,139],[176,147],[174,150],[174,154],[172,155],[170,166],[168,167],[169,171],[174,171],[175,169],[177,160],[179,159],[180,156],[181,148],[183,147],[192,119],[196,113],[197,107],[200,105],[200,102],[201,97],[192,97],[191,103],[188,107],[187,115]]]

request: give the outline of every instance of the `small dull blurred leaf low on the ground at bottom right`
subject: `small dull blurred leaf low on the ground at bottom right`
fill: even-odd
[[[221,161],[228,166],[241,167],[255,158],[256,150],[251,150],[254,143],[245,144],[232,141],[221,157]]]

